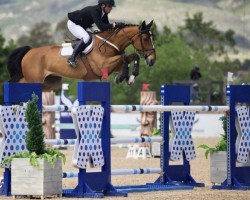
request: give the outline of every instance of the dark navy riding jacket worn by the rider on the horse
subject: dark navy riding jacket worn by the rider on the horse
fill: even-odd
[[[81,10],[68,13],[68,18],[84,29],[91,28],[94,23],[101,31],[113,27],[113,25],[109,23],[108,14],[105,13],[102,17],[102,9],[99,5],[88,6]]]

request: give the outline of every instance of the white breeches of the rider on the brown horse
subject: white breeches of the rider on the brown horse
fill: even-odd
[[[84,43],[86,44],[90,37],[89,34],[84,30],[84,28],[82,28],[79,25],[76,25],[74,22],[72,22],[71,20],[68,20],[67,22],[67,26],[69,31],[78,39],[82,39],[84,41]]]

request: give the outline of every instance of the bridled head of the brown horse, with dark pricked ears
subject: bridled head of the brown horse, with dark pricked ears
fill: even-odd
[[[145,58],[147,65],[152,66],[156,60],[155,47],[153,44],[152,33],[150,28],[153,20],[146,24],[145,21],[139,26],[138,34],[135,35],[133,40],[134,48]]]

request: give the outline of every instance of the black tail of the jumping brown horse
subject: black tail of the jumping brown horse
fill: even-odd
[[[23,78],[22,59],[31,49],[29,46],[23,46],[15,49],[8,58],[8,72],[10,74],[9,82],[18,82]]]

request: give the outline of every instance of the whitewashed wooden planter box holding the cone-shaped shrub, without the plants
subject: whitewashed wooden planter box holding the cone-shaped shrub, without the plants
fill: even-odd
[[[28,158],[15,158],[11,163],[12,195],[59,195],[62,194],[62,160],[54,168],[47,160],[39,159],[39,168],[31,166]]]

